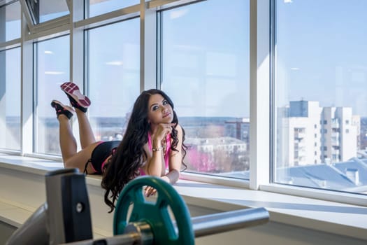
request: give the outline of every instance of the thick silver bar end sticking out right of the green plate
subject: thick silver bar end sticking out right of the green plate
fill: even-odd
[[[192,218],[195,237],[213,235],[250,226],[261,225],[269,220],[264,208],[240,209],[219,214],[209,214]]]

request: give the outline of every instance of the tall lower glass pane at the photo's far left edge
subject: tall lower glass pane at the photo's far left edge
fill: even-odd
[[[20,48],[0,52],[0,148],[20,150]]]

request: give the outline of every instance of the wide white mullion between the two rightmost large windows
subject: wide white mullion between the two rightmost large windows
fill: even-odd
[[[269,183],[270,4],[250,1],[250,188]]]

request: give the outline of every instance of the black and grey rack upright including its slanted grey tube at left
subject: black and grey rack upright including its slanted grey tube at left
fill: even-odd
[[[7,245],[62,244],[92,239],[85,176],[78,169],[45,175],[46,202],[8,239]]]

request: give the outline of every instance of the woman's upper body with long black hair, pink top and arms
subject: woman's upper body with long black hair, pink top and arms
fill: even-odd
[[[101,186],[106,189],[110,211],[122,188],[136,176],[148,174],[161,176],[168,183],[178,181],[186,154],[184,139],[185,131],[178,124],[171,99],[161,90],[142,92],[122,142],[103,173]],[[149,187],[145,190],[147,196],[154,192]]]

